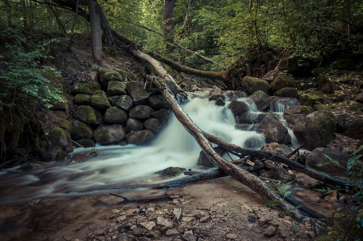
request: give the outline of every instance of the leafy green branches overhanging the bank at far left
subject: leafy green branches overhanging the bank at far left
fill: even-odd
[[[3,87],[0,107],[11,109],[28,98],[37,99],[48,108],[52,107],[51,102],[64,102],[60,95],[62,91],[52,83],[52,80],[61,78],[61,73],[52,66],[40,66],[41,61],[48,58],[45,54],[48,45],[64,38],[33,42],[20,29],[13,28],[1,30],[0,35],[4,40],[9,40],[5,42],[7,56],[0,56],[0,64],[6,66],[0,70],[0,84]]]

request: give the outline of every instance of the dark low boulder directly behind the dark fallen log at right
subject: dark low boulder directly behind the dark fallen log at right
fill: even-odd
[[[316,166],[317,164],[330,162],[330,160],[326,158],[324,154],[330,156],[330,158],[332,159],[337,160],[338,163],[343,167],[347,166],[348,159],[350,158],[347,153],[334,151],[329,148],[318,147],[311,151],[309,154],[307,154],[305,158],[305,164],[311,168],[316,169],[317,171],[329,174],[346,172],[346,169],[338,167],[333,163],[326,164],[322,167]]]

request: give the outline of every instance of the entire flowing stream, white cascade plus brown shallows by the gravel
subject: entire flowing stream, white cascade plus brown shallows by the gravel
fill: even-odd
[[[209,102],[205,93],[193,95],[195,98],[189,99],[183,109],[203,131],[239,146],[245,146],[249,138],[257,140],[256,149],[265,144],[262,134],[236,130],[231,110]],[[248,103],[251,113],[258,114],[255,113],[256,105],[248,98],[239,100]],[[228,104],[226,99],[225,106]],[[277,104],[278,109],[274,111],[280,112],[282,117],[284,108],[297,104],[283,101]],[[297,145],[295,139],[292,143]],[[109,196],[113,187],[166,181],[154,174],[161,169],[202,169],[197,166],[201,148],[174,115],[155,141],[147,146],[101,146],[96,148],[99,156],[93,158],[86,155],[89,150],[76,148],[70,160],[38,162],[28,171],[19,171],[17,167],[0,171],[0,236],[4,232],[5,237],[2,240],[24,237],[35,229],[50,232],[60,223],[71,223],[75,218],[90,217],[109,209],[120,201],[119,198]],[[230,160],[228,156],[225,158]],[[165,191],[125,189],[118,192],[122,192],[123,196],[140,197],[162,195]],[[263,203],[256,193],[230,177],[176,187],[172,192],[206,202],[225,201],[224,196],[229,200],[228,205],[236,209],[240,202],[248,205]],[[36,199],[42,200],[39,210],[43,211],[29,207],[29,202]]]

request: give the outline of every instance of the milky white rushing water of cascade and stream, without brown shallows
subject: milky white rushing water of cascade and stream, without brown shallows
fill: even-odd
[[[234,128],[235,120],[231,110],[209,102],[206,93],[194,94],[183,105],[184,111],[203,131],[215,134],[228,142],[244,146],[249,138],[257,140],[259,149],[265,144],[263,134]],[[204,95],[204,97],[203,97]],[[257,107],[248,98],[240,98],[250,106],[250,112]],[[289,105],[296,105],[296,102]],[[288,107],[279,107],[284,111]],[[294,142],[293,142],[294,143]],[[296,144],[296,143],[294,143]],[[89,151],[90,148],[87,149]],[[64,195],[85,195],[95,189],[158,183],[156,171],[167,167],[183,167],[200,170],[197,159],[201,148],[172,114],[166,128],[148,146],[100,146],[99,156],[82,156],[85,149],[76,148],[72,159],[58,163],[36,163],[28,171],[15,167],[0,171],[0,204],[31,201],[44,197]],[[228,156],[225,156],[230,160]],[[182,175],[181,175],[182,176]],[[181,177],[180,176],[180,177]],[[174,177],[172,179],[175,179]]]

